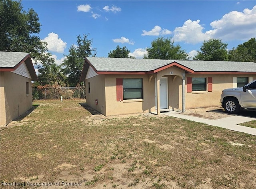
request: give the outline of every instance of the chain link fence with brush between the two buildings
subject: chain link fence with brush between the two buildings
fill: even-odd
[[[86,87],[45,87],[44,89],[32,88],[33,100],[40,99],[72,99],[72,98],[86,98]]]

